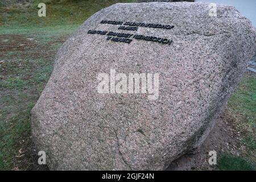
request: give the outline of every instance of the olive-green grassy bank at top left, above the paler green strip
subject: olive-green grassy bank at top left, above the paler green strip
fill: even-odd
[[[46,17],[38,16],[38,4],[46,3]],[[22,6],[2,9],[0,21],[4,26],[45,27],[66,24],[81,24],[92,14],[117,2],[136,2],[134,0],[84,0],[84,1],[32,1],[29,8]]]

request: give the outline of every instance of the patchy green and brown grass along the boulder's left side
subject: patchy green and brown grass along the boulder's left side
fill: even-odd
[[[65,38],[72,31],[65,33]],[[4,54],[5,62],[0,64],[0,170],[26,168],[24,163],[28,159],[16,157],[20,148],[27,147],[20,141],[30,136],[30,111],[51,76],[54,56],[61,46],[60,42],[51,43],[57,41],[59,34],[44,35],[46,39],[33,35],[37,40],[42,39],[35,48],[15,51],[15,55]],[[47,52],[46,58],[38,55],[41,49]]]

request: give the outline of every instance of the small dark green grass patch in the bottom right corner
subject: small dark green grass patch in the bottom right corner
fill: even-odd
[[[221,171],[254,171],[254,166],[241,156],[223,154],[218,160]]]

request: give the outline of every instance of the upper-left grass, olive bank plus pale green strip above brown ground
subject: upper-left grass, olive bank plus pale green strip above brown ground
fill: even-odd
[[[46,17],[38,16],[38,3],[46,3]],[[60,3],[58,3],[60,2]],[[104,7],[136,0],[32,1],[31,6],[0,6],[1,34],[36,34],[40,40],[53,35],[67,36]],[[43,40],[43,41],[44,41]]]

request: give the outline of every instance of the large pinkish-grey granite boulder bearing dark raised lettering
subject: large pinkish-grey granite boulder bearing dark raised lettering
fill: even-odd
[[[234,7],[118,3],[94,14],[56,55],[32,109],[32,136],[50,169],[166,169],[198,147],[254,55],[255,30]],[[171,24],[118,30],[101,20]],[[172,39],[130,44],[87,34],[106,30]],[[100,94],[99,73],[159,73],[159,97]]]

